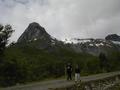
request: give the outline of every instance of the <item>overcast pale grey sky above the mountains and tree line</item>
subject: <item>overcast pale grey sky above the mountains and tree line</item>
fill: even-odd
[[[0,23],[15,30],[11,41],[32,22],[60,40],[120,35],[120,0],[0,0]]]

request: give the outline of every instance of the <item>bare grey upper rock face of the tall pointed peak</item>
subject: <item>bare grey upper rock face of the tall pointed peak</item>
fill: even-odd
[[[38,39],[48,41],[51,39],[51,36],[45,31],[42,26],[36,22],[33,22],[29,24],[27,29],[20,36],[18,43],[30,42]]]

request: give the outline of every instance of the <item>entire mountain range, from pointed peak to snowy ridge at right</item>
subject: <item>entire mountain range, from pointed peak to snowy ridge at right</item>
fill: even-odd
[[[118,35],[113,34],[108,35],[105,39],[74,38],[59,41],[52,38],[38,23],[33,22],[29,24],[17,43],[47,51],[59,51],[60,48],[63,48],[78,53],[84,52],[99,55],[101,52],[107,53],[110,50],[120,50],[120,44],[115,43],[115,41],[119,41],[119,38]]]

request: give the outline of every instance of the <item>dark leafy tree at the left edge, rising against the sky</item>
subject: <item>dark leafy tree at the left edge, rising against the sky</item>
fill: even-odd
[[[11,37],[12,33],[13,33],[13,29],[11,25],[1,25],[0,24],[0,85],[5,85],[7,78],[6,75],[9,74],[12,75],[11,71],[12,70],[10,66],[13,66],[12,63],[8,63],[5,59],[4,59],[4,50],[6,48],[6,45],[8,44],[9,38]],[[9,73],[11,72],[11,73]],[[7,82],[8,83],[8,82]]]

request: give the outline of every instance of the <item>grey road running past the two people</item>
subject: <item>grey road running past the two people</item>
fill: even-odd
[[[111,72],[111,73],[85,76],[85,77],[81,77],[81,81],[88,82],[88,81],[100,80],[100,79],[104,79],[104,78],[115,76],[115,75],[120,75],[120,72]],[[68,87],[71,85],[74,85],[74,81],[67,81],[65,79],[61,79],[61,80],[43,81],[43,82],[38,82],[38,83],[28,84],[28,85],[19,85],[19,86],[7,87],[7,88],[0,88],[0,90],[49,90],[53,88]]]

